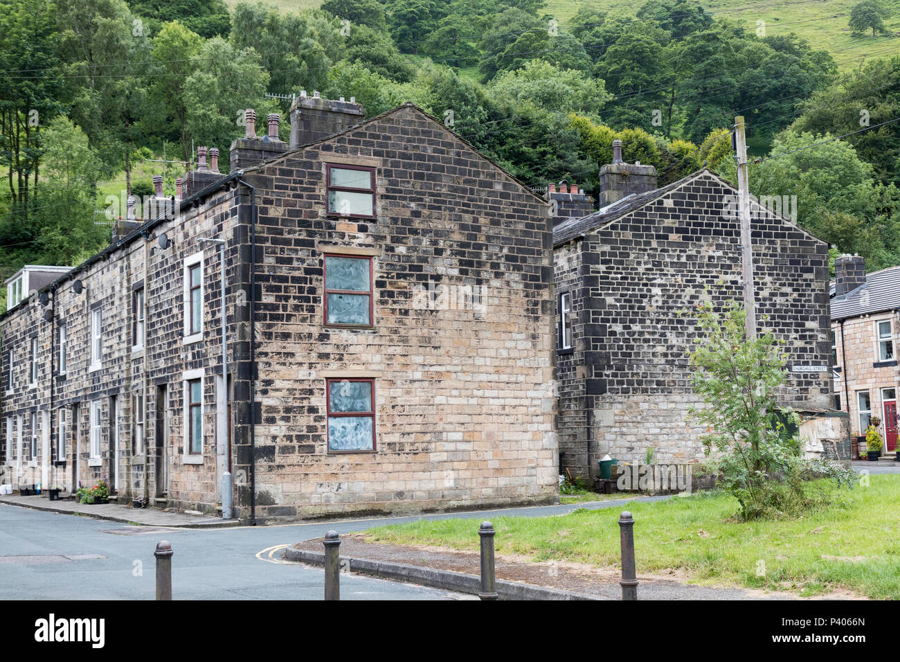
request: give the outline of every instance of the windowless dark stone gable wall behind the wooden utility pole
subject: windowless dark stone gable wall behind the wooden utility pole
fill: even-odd
[[[590,330],[585,391],[596,445],[585,474],[596,472],[605,453],[635,461],[653,447],[661,462],[703,457],[700,431],[688,418],[689,406],[699,404],[689,385],[697,331],[678,313],[696,308],[707,286],[717,306],[741,300],[739,224],[724,213],[733,199],[733,188],[704,171],[581,241],[585,256],[596,257],[586,295],[590,319],[584,320]],[[827,245],[755,212],[759,327],[787,342],[788,366],[827,366]],[[790,373],[779,399],[797,409],[830,408],[831,376]]]

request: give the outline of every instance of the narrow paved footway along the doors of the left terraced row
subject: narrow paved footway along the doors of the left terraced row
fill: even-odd
[[[147,526],[184,527],[185,529],[218,529],[238,526],[238,520],[222,520],[209,515],[166,512],[158,508],[130,508],[120,503],[76,503],[74,499],[50,501],[44,494],[21,496],[3,494],[0,504],[21,506],[37,511],[93,517],[98,520],[122,521]]]

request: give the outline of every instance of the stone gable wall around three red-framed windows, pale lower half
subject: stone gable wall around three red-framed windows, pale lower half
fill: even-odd
[[[377,218],[327,215],[329,162],[377,168]],[[554,502],[545,204],[411,106],[253,175],[257,517]],[[323,325],[326,251],[374,258],[374,328]],[[375,452],[327,449],[325,379],[341,376],[375,379]]]

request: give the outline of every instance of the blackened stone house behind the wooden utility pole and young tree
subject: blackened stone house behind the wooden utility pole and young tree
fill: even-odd
[[[707,297],[742,300],[737,191],[707,169],[657,187],[653,167],[628,164],[621,142],[600,169],[598,212],[554,219],[557,427],[561,466],[596,477],[598,460],[662,463],[704,457],[688,408],[695,325],[680,311]],[[759,327],[785,340],[780,394],[805,419],[807,452],[849,458],[833,411],[828,245],[752,204]],[[717,284],[722,282],[723,286]],[[763,321],[763,315],[769,320]]]

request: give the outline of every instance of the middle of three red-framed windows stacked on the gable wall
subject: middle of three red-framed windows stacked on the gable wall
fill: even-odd
[[[373,326],[372,258],[326,253],[324,323],[330,326]]]

